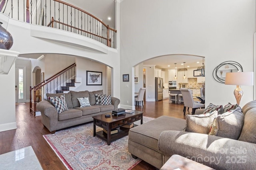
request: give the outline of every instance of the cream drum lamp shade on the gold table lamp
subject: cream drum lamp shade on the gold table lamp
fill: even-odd
[[[227,72],[225,84],[253,86],[253,72]]]

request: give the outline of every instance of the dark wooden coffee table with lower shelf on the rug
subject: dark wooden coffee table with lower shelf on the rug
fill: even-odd
[[[106,118],[105,115],[110,114],[111,116]],[[93,116],[93,136],[100,137],[107,141],[108,145],[110,142],[120,139],[128,135],[129,128],[120,128],[123,125],[128,123],[132,123],[134,121],[140,120],[140,124],[143,124],[143,112],[142,111],[134,111],[134,113],[124,113],[121,115],[112,115],[112,113],[106,113],[102,115]],[[96,132],[96,126],[102,127],[108,133],[104,133],[103,131]],[[134,125],[136,126],[136,125]],[[118,129],[118,133],[110,135],[112,129]]]

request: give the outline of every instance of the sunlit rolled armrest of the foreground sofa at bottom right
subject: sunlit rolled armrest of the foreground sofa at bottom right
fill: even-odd
[[[179,154],[214,169],[256,169],[256,144],[184,131],[163,131],[158,148],[164,156]]]

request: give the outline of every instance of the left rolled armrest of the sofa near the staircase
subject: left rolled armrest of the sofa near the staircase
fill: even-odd
[[[50,132],[58,129],[58,111],[50,102],[43,100],[36,109],[41,112],[41,121]]]

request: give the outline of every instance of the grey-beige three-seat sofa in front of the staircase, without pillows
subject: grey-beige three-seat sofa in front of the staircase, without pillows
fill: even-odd
[[[118,108],[120,100],[114,97],[111,97],[111,105],[95,105],[95,94],[103,94],[103,91],[70,91],[65,93],[65,101],[67,103],[68,110],[59,114],[56,108],[46,100],[39,102],[36,105],[36,108],[41,112],[42,123],[44,126],[51,133],[55,133],[55,131],[59,129],[93,121],[92,116],[110,113],[112,110]],[[63,95],[63,93],[46,94],[47,98],[60,95]],[[82,97],[89,97],[91,106],[80,107],[80,103],[77,98]]]

